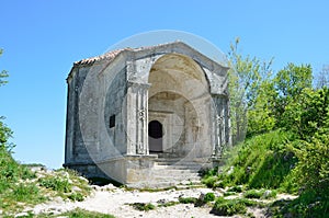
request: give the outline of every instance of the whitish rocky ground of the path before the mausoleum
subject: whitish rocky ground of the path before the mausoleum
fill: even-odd
[[[91,196],[83,202],[70,202],[63,200],[60,197],[55,198],[46,204],[36,205],[33,208],[25,208],[25,214],[32,211],[33,214],[63,214],[65,211],[72,210],[75,208],[82,208],[90,211],[99,211],[103,214],[111,214],[117,218],[180,218],[180,217],[218,217],[211,214],[211,207],[194,207],[193,204],[177,204],[174,206],[161,207],[159,205],[168,202],[178,202],[179,197],[198,197],[202,193],[209,192],[220,196],[223,192],[200,187],[200,188],[185,188],[185,190],[169,190],[161,192],[140,192],[140,191],[127,191],[125,188],[118,188],[112,184],[106,186],[92,186],[93,192]],[[234,197],[234,196],[232,196]],[[288,198],[293,196],[279,195],[279,198]],[[154,210],[139,211],[136,210],[129,204],[133,203],[151,203],[157,206]],[[254,217],[265,217],[265,209],[249,208],[249,213],[252,213]],[[24,214],[24,213],[23,213]],[[22,215],[22,213],[21,213]],[[235,216],[239,217],[239,216]]]

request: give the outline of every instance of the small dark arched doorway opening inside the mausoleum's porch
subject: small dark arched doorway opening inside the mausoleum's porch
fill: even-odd
[[[150,152],[162,152],[162,124],[158,121],[151,121],[148,124],[148,145]]]

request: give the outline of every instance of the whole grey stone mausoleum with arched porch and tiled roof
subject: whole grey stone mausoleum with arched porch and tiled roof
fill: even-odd
[[[134,187],[193,182],[230,145],[227,70],[182,42],[75,62],[64,165]]]

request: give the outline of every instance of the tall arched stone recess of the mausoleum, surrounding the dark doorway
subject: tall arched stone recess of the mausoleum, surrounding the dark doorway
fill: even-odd
[[[148,118],[159,121],[166,135],[149,150],[166,157],[209,157],[211,95],[203,69],[192,58],[167,54],[151,67],[148,82]],[[149,126],[149,136],[154,133]]]

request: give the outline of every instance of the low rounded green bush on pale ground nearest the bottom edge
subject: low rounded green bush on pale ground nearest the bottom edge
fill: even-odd
[[[219,197],[216,199],[211,213],[218,216],[245,215],[247,207],[240,199],[224,199]]]

